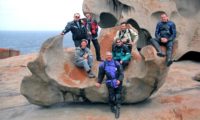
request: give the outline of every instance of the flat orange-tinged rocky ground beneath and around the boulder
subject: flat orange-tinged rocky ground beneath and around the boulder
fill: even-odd
[[[29,104],[20,83],[31,73],[26,65],[36,54],[0,60],[0,120],[113,120],[107,104],[61,103],[49,108]],[[200,63],[175,62],[164,86],[149,100],[122,105],[119,120],[200,120]]]

